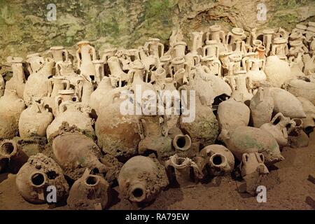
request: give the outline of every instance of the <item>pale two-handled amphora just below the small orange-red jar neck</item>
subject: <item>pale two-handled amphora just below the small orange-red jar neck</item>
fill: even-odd
[[[246,61],[247,75],[251,76],[253,82],[260,82],[266,80],[265,60],[263,59],[248,59]]]

